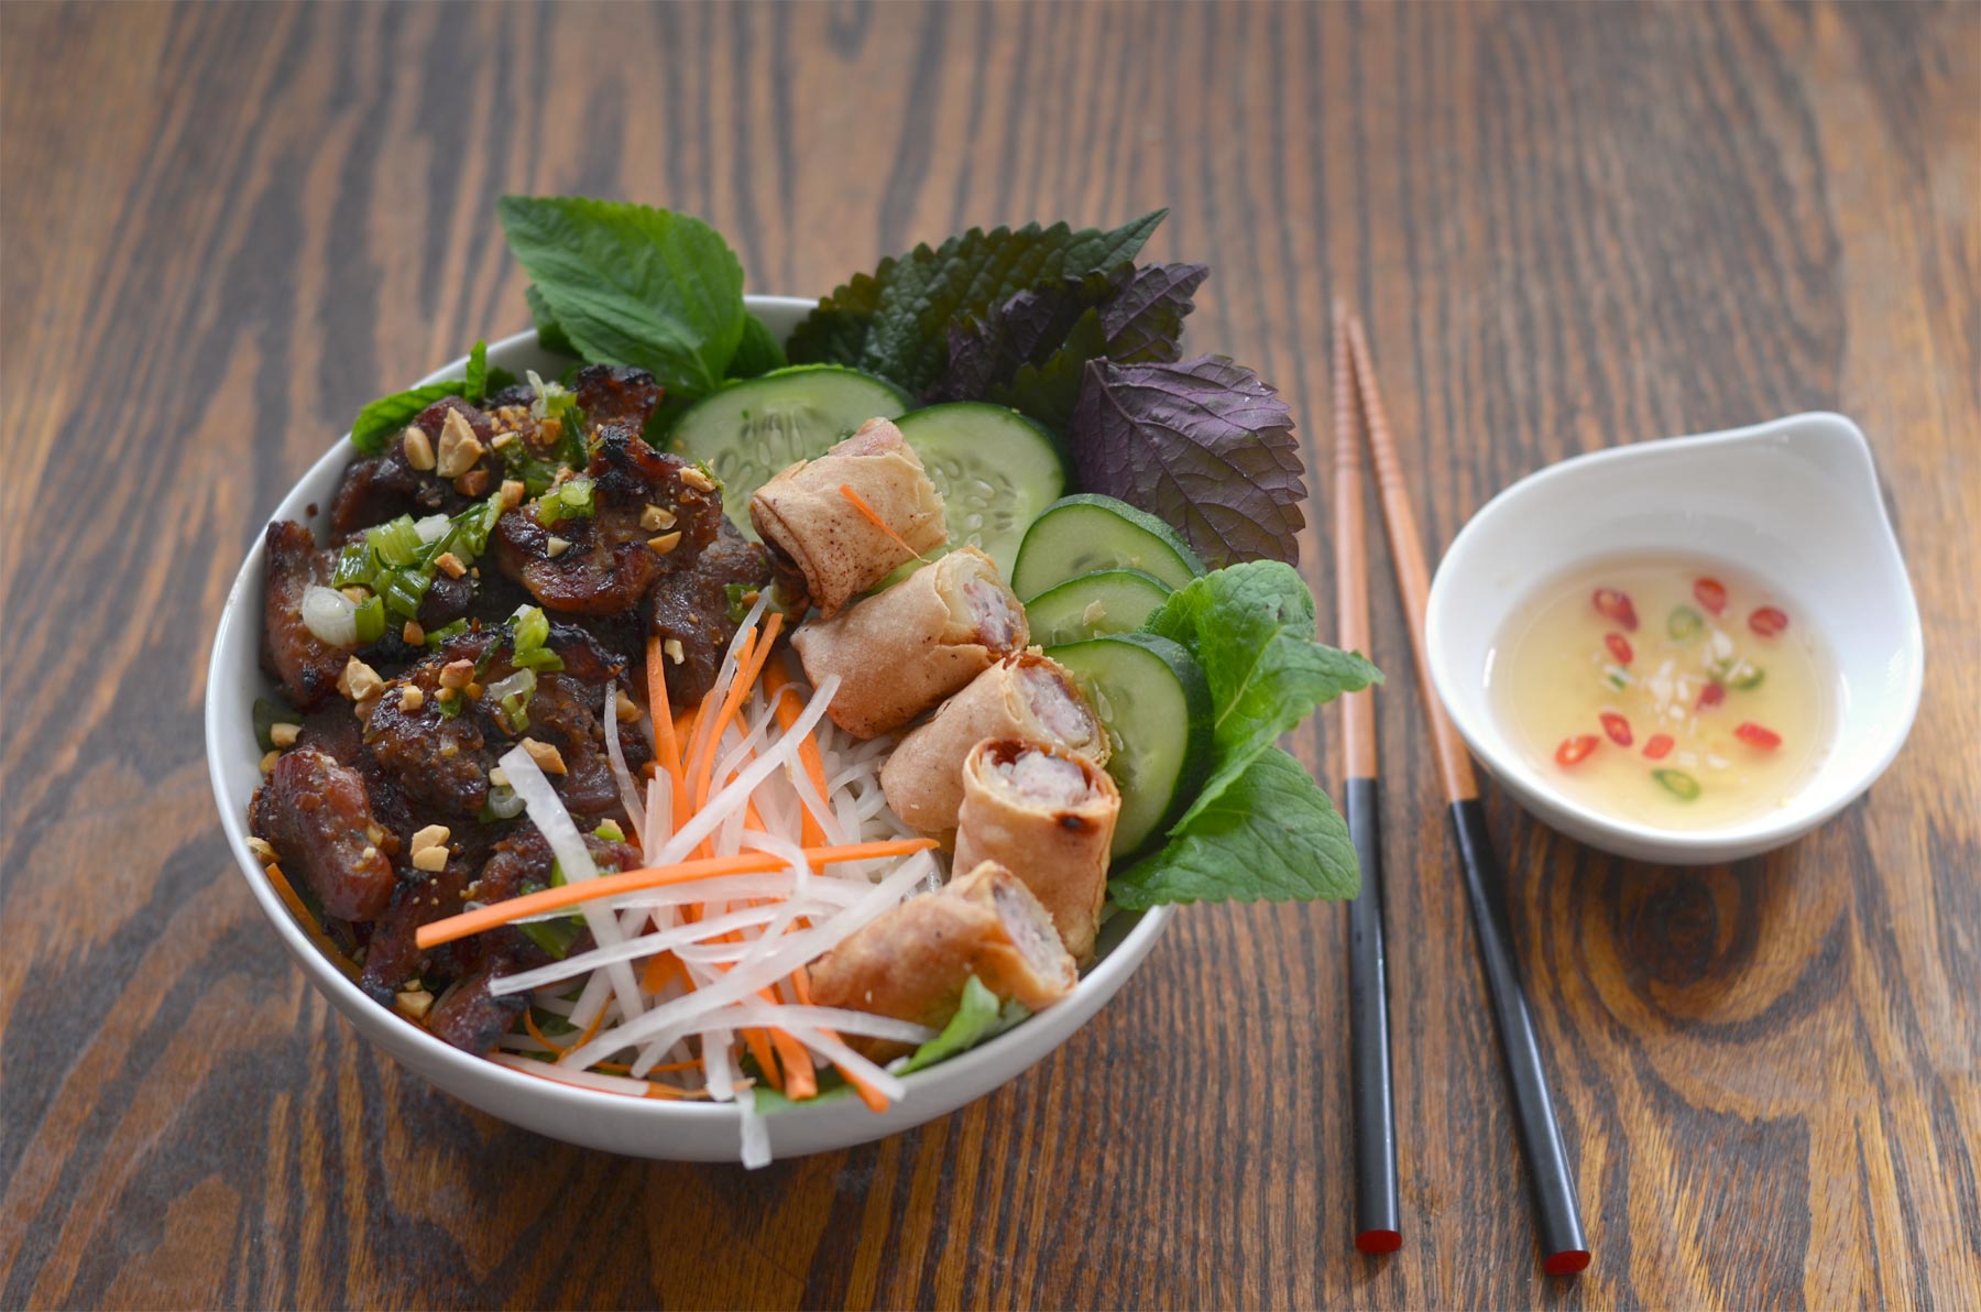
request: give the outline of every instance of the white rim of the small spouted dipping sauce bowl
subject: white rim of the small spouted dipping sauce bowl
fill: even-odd
[[[1894,601],[1900,604],[1904,616],[1904,632],[1900,634],[1898,646],[1908,656],[1908,682],[1898,698],[1904,704],[1904,713],[1882,721],[1886,729],[1882,733],[1882,741],[1870,739],[1878,751],[1870,757],[1862,757],[1862,763],[1842,775],[1838,783],[1832,783],[1823,793],[1799,799],[1793,807],[1785,807],[1779,813],[1753,820],[1696,830],[1654,828],[1650,824],[1622,820],[1603,811],[1595,811],[1551,785],[1545,775],[1529,767],[1512,751],[1500,751],[1498,739],[1492,733],[1482,731],[1480,725],[1480,719],[1488,717],[1490,711],[1484,710],[1484,702],[1480,698],[1472,696],[1474,690],[1460,686],[1462,672],[1454,668],[1456,658],[1444,654],[1450,650],[1450,644],[1442,634],[1444,622],[1448,622],[1448,606],[1440,604],[1440,599],[1448,597],[1450,587],[1454,587],[1450,585],[1454,575],[1446,567],[1458,557],[1472,555],[1474,541],[1486,533],[1480,525],[1504,515],[1508,511],[1506,503],[1529,497],[1537,490],[1545,490],[1561,478],[1573,478],[1591,466],[1611,464],[1616,460],[1684,460],[1714,448],[1781,438],[1783,434],[1795,434],[1799,430],[1815,432],[1821,428],[1828,428],[1832,434],[1842,436],[1852,448],[1852,458],[1862,462],[1862,474],[1870,490],[1872,505],[1876,507],[1874,529],[1882,533],[1882,547],[1890,555],[1902,585],[1902,591]],[[1579,561],[1593,561],[1599,557],[1601,553],[1591,553],[1589,557],[1579,557]],[[1571,567],[1573,563],[1555,573],[1565,573]],[[1444,587],[1440,589],[1440,585]],[[1500,618],[1504,616],[1506,610],[1500,612]],[[1510,791],[1539,799],[1539,803],[1547,809],[1559,811],[1577,826],[1599,832],[1620,844],[1628,844],[1636,852],[1658,850],[1678,860],[1720,860],[1727,852],[1763,852],[1791,842],[1836,817],[1836,813],[1862,797],[1864,791],[1892,765],[1892,761],[1898,759],[1900,749],[1906,745],[1906,737],[1912,733],[1912,723],[1918,717],[1920,698],[1926,688],[1926,638],[1920,624],[1918,595],[1912,587],[1912,573],[1906,569],[1906,553],[1898,541],[1898,533],[1892,529],[1892,517],[1884,505],[1882,482],[1878,480],[1870,440],[1850,416],[1834,410],[1803,410],[1763,420],[1759,424],[1745,424],[1741,428],[1721,428],[1714,432],[1630,442],[1624,446],[1581,452],[1577,456],[1567,456],[1541,466],[1533,474],[1508,484],[1484,505],[1480,505],[1470,519],[1466,519],[1464,527],[1460,527],[1452,537],[1450,547],[1444,549],[1444,557],[1438,561],[1438,571],[1430,581],[1430,597],[1424,616],[1424,646],[1430,652],[1430,682],[1438,692],[1438,702],[1444,704],[1444,710],[1450,713],[1460,737],[1466,739],[1472,753],[1494,779],[1506,783]],[[1559,828],[1547,815],[1537,815],[1537,819],[1547,822],[1551,828]]]

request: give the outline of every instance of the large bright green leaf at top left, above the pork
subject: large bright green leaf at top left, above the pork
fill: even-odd
[[[509,250],[588,361],[713,392],[743,341],[743,264],[687,214],[584,196],[503,196]]]

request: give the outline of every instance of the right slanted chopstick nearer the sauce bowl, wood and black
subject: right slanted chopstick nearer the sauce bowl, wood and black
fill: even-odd
[[[1551,1276],[1573,1274],[1589,1266],[1589,1239],[1583,1235],[1581,1211],[1575,1201],[1575,1173],[1569,1167],[1561,1126],[1555,1124],[1555,1104],[1547,1092],[1541,1040],[1533,1031],[1533,1017],[1527,1013],[1527,997],[1519,987],[1519,967],[1513,963],[1513,935],[1506,929],[1500,912],[1500,890],[1506,880],[1486,832],[1486,811],[1478,801],[1472,757],[1430,684],[1430,660],[1424,652],[1424,604],[1430,599],[1424,539],[1416,529],[1416,513],[1410,509],[1403,468],[1397,464],[1397,444],[1389,434],[1389,416],[1383,410],[1383,396],[1369,361],[1369,337],[1363,333],[1359,317],[1349,315],[1347,319],[1355,392],[1361,396],[1375,480],[1383,495],[1389,553],[1397,565],[1397,593],[1403,597],[1410,650],[1416,656],[1416,684],[1436,745],[1438,775],[1450,803],[1452,830],[1466,874],[1466,894],[1472,902],[1480,963],[1486,967],[1486,987],[1500,1029],[1508,1080],[1513,1086],[1515,1124],[1519,1126],[1521,1149],[1527,1155],[1541,1231],[1541,1268]]]

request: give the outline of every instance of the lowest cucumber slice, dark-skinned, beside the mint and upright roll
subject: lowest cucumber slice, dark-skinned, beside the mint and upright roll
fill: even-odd
[[[1202,666],[1155,634],[1109,634],[1046,652],[1107,725],[1107,773],[1121,789],[1113,856],[1175,824],[1210,773],[1210,684]]]

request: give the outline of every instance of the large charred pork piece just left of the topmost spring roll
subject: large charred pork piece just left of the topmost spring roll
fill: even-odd
[[[662,575],[687,569],[715,541],[721,486],[695,466],[648,446],[636,428],[598,430],[588,513],[543,523],[537,501],[495,525],[495,557],[551,610],[632,610]]]

